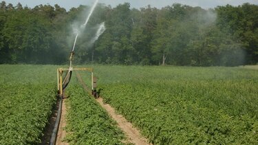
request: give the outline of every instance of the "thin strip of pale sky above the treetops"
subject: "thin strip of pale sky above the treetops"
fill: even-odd
[[[30,8],[34,8],[40,4],[58,4],[65,8],[67,11],[79,5],[93,5],[94,0],[6,0],[6,3],[12,3],[14,6],[17,3],[21,3],[23,6],[28,5]],[[215,8],[217,5],[241,5],[242,3],[252,3],[258,5],[258,0],[99,0],[98,3],[105,3],[111,5],[112,8],[116,7],[119,3],[131,3],[131,8],[145,8],[147,5],[151,7],[162,8],[166,5],[172,5],[173,3],[182,3],[191,6],[200,6],[202,8]]]

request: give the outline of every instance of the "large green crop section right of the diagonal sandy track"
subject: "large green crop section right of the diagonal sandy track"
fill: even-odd
[[[97,65],[94,71],[105,102],[153,144],[258,144],[255,69]]]

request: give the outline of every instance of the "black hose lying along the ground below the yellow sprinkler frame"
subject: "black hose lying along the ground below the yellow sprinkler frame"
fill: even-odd
[[[62,103],[63,103],[63,96],[61,96],[59,101],[59,107],[58,107],[58,113],[56,116],[56,123],[54,124],[54,129],[52,131],[51,139],[50,139],[50,145],[56,144],[56,136],[58,133],[58,127],[61,119],[61,113],[62,113]]]

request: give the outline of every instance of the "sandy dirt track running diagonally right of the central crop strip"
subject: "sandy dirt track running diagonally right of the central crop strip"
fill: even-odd
[[[91,91],[83,82],[80,75],[76,73],[76,76],[80,84],[83,85],[83,88],[85,89],[85,91],[88,91],[89,93],[91,93]],[[119,115],[118,113],[116,113],[116,110],[113,107],[111,107],[109,104],[104,104],[103,98],[100,97],[96,99],[96,101],[100,104],[101,107],[107,110],[111,118],[113,118],[113,120],[115,120],[118,123],[118,127],[122,131],[124,131],[125,135],[127,135],[127,140],[125,142],[133,143],[137,145],[149,144],[148,140],[142,137],[142,135],[140,135],[140,131],[138,131],[138,129],[133,127],[133,125],[130,122],[128,122],[122,115]]]

